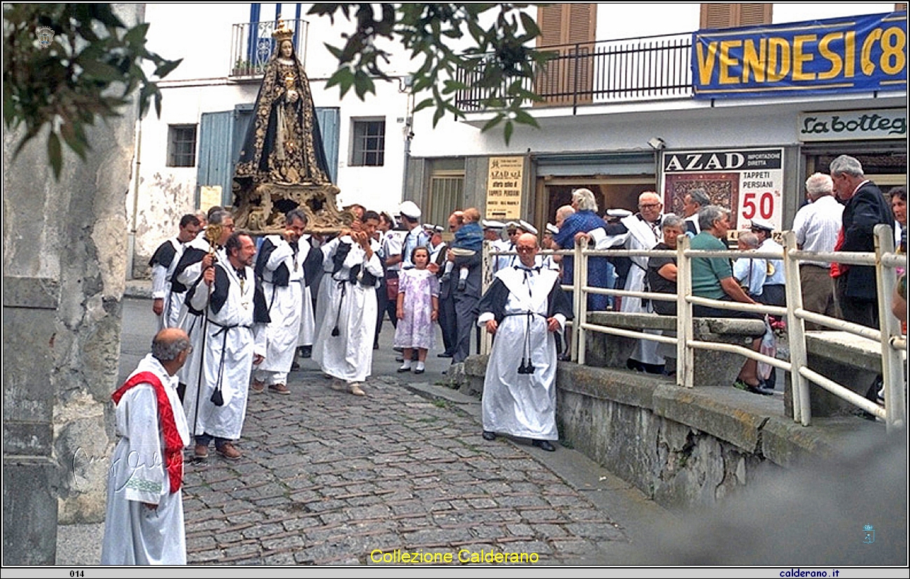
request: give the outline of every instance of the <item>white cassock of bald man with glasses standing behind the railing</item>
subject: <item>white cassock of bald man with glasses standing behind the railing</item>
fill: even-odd
[[[658,226],[652,228],[647,222],[636,215],[620,219],[620,223],[629,229],[629,237],[626,239],[626,249],[653,249],[655,245],[663,239],[663,232],[660,223],[663,219],[658,218]],[[647,256],[631,256],[632,267],[629,268],[629,275],[626,277],[626,291],[644,291],[644,279],[648,271]],[[632,313],[648,313],[652,311],[651,306],[642,306],[641,298],[630,298],[622,296],[620,311]],[[648,333],[660,334],[660,330],[649,331]],[[632,360],[644,362],[645,364],[661,365],[663,357],[657,353],[657,342],[652,340],[638,340],[635,351],[631,356]]]

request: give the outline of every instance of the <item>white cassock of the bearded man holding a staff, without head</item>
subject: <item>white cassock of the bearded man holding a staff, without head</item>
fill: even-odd
[[[254,338],[255,274],[252,268],[243,271],[245,279],[241,283],[227,259],[219,260],[211,295],[204,281],[191,290],[190,304],[195,310],[205,311],[199,346],[203,351],[202,371],[187,383],[183,399],[187,423],[195,436],[209,434],[229,440],[240,437],[247,414],[253,356],[265,355],[264,343],[257,344]],[[261,316],[263,312],[256,313]],[[261,332],[260,328],[255,330]],[[211,401],[216,390],[221,391],[221,406]]]

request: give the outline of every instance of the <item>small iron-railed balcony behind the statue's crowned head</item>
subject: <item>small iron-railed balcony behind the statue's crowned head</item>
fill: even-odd
[[[300,64],[307,64],[306,20],[284,20],[288,28],[294,31],[292,42],[294,54]],[[234,80],[256,79],[263,75],[268,60],[275,52],[275,39],[272,33],[278,27],[278,21],[246,22],[231,26],[230,63],[227,76]]]

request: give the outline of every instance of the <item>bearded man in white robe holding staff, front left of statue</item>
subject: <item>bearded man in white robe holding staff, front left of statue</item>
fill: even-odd
[[[208,456],[208,444],[227,460],[241,457],[233,441],[240,438],[247,414],[249,374],[265,357],[256,343],[268,323],[265,299],[250,267],[256,245],[248,235],[233,233],[225,243],[227,259],[202,273],[202,282],[190,290],[190,305],[203,311],[202,372],[187,385],[184,409],[196,437],[196,456]],[[254,331],[255,330],[255,331]]]

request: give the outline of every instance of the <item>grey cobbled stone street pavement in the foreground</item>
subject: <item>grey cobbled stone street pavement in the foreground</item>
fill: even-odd
[[[187,464],[190,564],[369,564],[396,549],[619,563],[608,545],[627,534],[535,460],[543,451],[483,441],[469,416],[397,377],[359,398],[307,365],[291,395],[251,396],[243,459]]]

